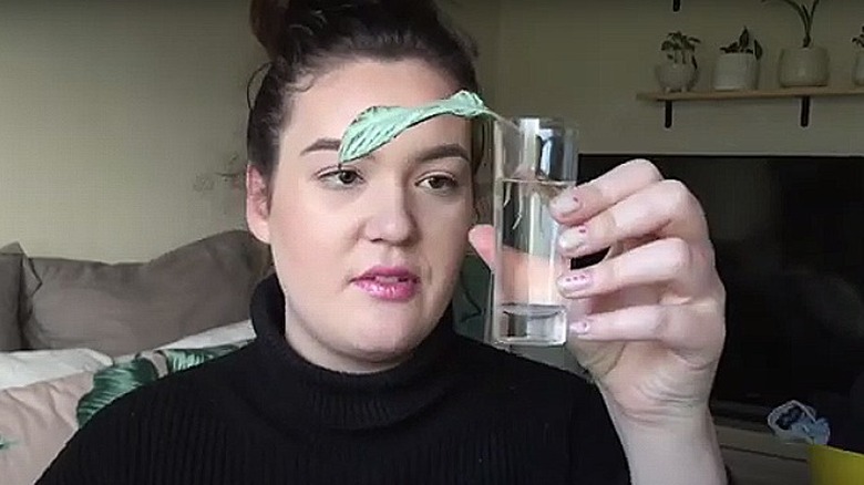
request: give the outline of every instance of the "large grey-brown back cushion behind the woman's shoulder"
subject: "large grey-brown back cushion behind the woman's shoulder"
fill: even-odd
[[[30,258],[23,270],[24,343],[116,357],[243,321],[268,268],[266,247],[239,230],[144,264]]]

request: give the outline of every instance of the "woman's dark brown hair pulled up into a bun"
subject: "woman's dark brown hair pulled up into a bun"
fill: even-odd
[[[250,22],[269,56],[246,136],[249,163],[265,180],[277,166],[298,82],[340,61],[420,59],[459,89],[480,91],[474,44],[432,0],[251,0]],[[482,147],[473,152],[476,167]]]

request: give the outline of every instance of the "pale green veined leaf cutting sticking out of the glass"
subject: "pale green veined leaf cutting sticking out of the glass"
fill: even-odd
[[[360,113],[346,130],[339,146],[339,162],[348,163],[362,158],[405,130],[443,114],[467,118],[501,118],[486,107],[480,96],[464,90],[445,100],[418,107],[373,106]]]

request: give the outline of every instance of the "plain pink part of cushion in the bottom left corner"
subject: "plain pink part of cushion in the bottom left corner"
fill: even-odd
[[[84,372],[0,391],[0,482],[30,485],[78,430],[79,400],[93,388]]]

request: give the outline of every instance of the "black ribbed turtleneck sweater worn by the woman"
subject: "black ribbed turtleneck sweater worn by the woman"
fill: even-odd
[[[288,345],[284,305],[265,280],[251,343],[120,398],[39,483],[628,483],[578,376],[457,336],[449,318],[398,368],[337,373]]]

